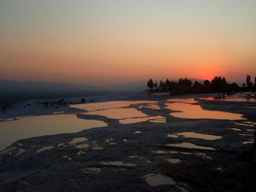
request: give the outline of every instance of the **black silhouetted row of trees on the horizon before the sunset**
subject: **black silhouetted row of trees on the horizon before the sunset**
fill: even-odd
[[[165,80],[159,84],[152,79],[148,80],[147,86],[151,92],[170,92],[171,95],[189,94],[189,93],[231,93],[236,91],[256,91],[255,83],[251,81],[251,76],[246,76],[246,83],[241,87],[236,83],[227,83],[225,77],[214,77],[213,80],[195,81],[194,83],[187,78],[181,78],[178,81]]]

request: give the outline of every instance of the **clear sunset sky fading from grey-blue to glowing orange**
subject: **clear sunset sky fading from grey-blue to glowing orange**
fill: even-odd
[[[255,0],[1,0],[0,79],[256,75]]]

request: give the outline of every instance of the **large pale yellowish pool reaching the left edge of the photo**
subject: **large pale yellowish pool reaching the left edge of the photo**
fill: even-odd
[[[18,139],[73,133],[87,128],[107,126],[100,120],[85,120],[75,115],[42,115],[0,123],[0,150]]]

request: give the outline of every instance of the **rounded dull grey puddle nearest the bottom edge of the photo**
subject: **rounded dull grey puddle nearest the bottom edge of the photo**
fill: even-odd
[[[146,180],[146,183],[148,183],[148,185],[151,185],[153,187],[156,187],[159,185],[175,185],[176,184],[172,178],[162,174],[152,174],[152,173],[146,174],[143,176],[143,179]]]

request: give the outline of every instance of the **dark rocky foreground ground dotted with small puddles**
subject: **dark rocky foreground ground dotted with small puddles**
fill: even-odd
[[[0,155],[0,191],[256,191],[256,103],[197,99],[204,109],[241,113],[246,120],[184,119],[165,108],[166,96],[151,99],[159,109],[129,107],[166,123],[121,124],[78,113],[108,127],[14,142]]]

